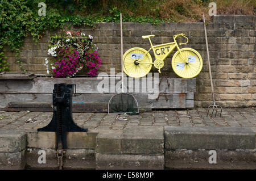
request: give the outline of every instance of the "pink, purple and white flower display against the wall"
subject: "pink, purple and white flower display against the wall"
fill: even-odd
[[[93,36],[77,31],[60,32],[60,35],[51,37],[48,46],[48,55],[45,66],[47,74],[53,77],[73,77],[83,70],[93,77],[101,65],[97,52],[98,47],[93,43]]]

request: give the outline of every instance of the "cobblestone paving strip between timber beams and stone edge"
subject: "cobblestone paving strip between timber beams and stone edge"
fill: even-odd
[[[116,113],[73,113],[77,125],[89,129],[122,130],[137,126],[181,126],[181,127],[256,127],[256,111],[252,108],[224,108],[221,117],[210,118],[207,108],[191,110],[168,110],[144,112],[140,115],[118,115]],[[36,130],[46,126],[52,112],[5,112],[0,111],[1,130]]]

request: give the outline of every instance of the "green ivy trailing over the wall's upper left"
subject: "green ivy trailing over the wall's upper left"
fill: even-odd
[[[120,12],[117,8],[113,8],[110,15],[89,14],[86,16],[71,13],[61,14],[61,11],[57,9],[47,8],[46,16],[39,16],[38,3],[46,2],[45,0],[0,0],[0,2],[0,72],[9,70],[5,56],[6,46],[15,53],[16,63],[22,69],[19,53],[23,47],[24,38],[28,35],[31,35],[36,43],[43,37],[46,30],[63,28],[66,23],[94,28],[96,23],[100,22],[119,22]],[[70,9],[69,12],[71,12]],[[123,14],[123,22],[149,22],[158,25],[164,21],[170,22],[170,19]]]

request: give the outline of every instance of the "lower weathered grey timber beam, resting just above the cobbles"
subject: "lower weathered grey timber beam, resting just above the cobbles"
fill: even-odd
[[[108,103],[114,94],[77,94],[75,103]],[[186,94],[169,94],[159,96],[159,100],[148,99],[147,94],[133,94],[137,99],[139,108],[185,108]],[[9,102],[52,102],[52,94],[0,94],[0,107],[6,107]],[[81,106],[83,105],[81,103]],[[89,108],[88,108],[89,109]]]

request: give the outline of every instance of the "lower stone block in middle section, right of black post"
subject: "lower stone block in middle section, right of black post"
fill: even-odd
[[[162,170],[164,169],[164,155],[128,155],[96,153],[96,169]]]

